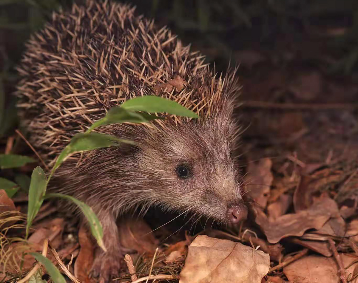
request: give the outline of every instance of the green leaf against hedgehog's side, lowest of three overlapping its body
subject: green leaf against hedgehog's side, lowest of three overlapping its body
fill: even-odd
[[[118,143],[121,142],[126,142],[133,145],[135,144],[132,141],[121,140],[110,135],[96,132],[77,134],[72,138],[71,142],[62,150],[58,156],[56,163],[51,171],[51,176],[58,168],[58,166],[60,166],[62,162],[64,162],[73,153],[94,150],[102,147],[118,146]]]

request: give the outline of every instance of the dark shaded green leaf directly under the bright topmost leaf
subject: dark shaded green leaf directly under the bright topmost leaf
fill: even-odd
[[[109,124],[123,123],[123,122],[144,123],[154,119],[160,119],[160,118],[147,113],[144,114],[144,113],[130,112],[122,107],[112,107],[108,111],[106,116],[101,120],[98,120],[95,123],[93,123],[93,125],[87,130],[87,132],[90,132],[91,130],[102,125],[109,125]]]

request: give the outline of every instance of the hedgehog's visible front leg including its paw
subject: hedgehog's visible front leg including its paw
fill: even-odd
[[[100,248],[97,249],[91,276],[100,277],[99,282],[110,282],[111,278],[118,277],[125,249],[120,245],[115,215],[111,211],[103,210],[103,208],[98,212],[95,209],[95,212],[102,223],[103,242],[107,252],[105,253]]]

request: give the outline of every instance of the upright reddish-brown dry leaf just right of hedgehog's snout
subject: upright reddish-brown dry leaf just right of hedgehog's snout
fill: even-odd
[[[250,162],[245,176],[245,191],[257,204],[266,207],[270,197],[270,186],[274,177],[271,173],[272,161],[269,158],[260,161]]]

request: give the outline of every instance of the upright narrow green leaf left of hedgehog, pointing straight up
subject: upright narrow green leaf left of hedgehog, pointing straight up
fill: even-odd
[[[40,166],[37,166],[31,175],[29,189],[29,203],[27,211],[26,238],[29,234],[32,221],[40,210],[43,203],[43,196],[46,192],[46,175]]]

